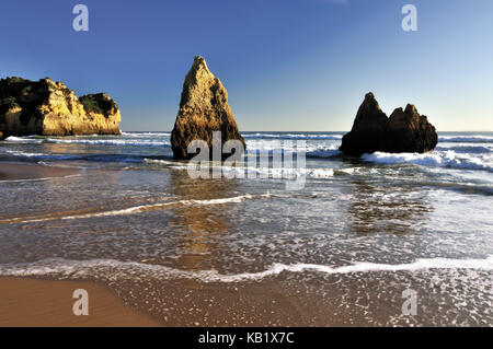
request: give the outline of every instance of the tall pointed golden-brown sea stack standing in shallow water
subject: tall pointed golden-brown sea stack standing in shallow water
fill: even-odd
[[[228,105],[228,92],[207,68],[205,59],[196,56],[183,83],[180,110],[171,132],[171,148],[176,160],[187,160],[187,147],[193,140],[204,140],[213,149],[213,132],[221,132],[221,144],[228,140],[245,142],[238,130],[231,108]],[[228,154],[222,154],[222,158]]]

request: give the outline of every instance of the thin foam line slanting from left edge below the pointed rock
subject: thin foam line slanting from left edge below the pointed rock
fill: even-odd
[[[119,210],[111,210],[103,212],[94,212],[94,213],[83,213],[83,214],[69,214],[69,216],[53,216],[53,217],[20,217],[20,218],[10,218],[0,220],[0,224],[24,224],[24,223],[38,223],[46,221],[55,221],[55,220],[76,220],[76,219],[87,219],[87,218],[99,218],[99,217],[116,217],[116,216],[127,216],[127,214],[136,214],[151,210],[164,209],[167,207],[177,206],[177,205],[222,205],[222,203],[238,203],[244,200],[252,199],[263,199],[271,198],[273,195],[263,194],[263,195],[240,195],[230,198],[219,198],[219,199],[210,199],[210,200],[177,200],[177,201],[169,201],[161,203],[151,203],[151,205],[140,205],[134,206],[126,209]]]

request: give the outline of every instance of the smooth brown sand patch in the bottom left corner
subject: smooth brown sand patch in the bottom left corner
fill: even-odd
[[[76,316],[73,291],[89,293],[89,315]],[[1,327],[147,327],[161,324],[93,282],[0,278]]]

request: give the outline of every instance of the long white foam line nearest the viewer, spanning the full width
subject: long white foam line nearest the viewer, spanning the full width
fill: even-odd
[[[355,263],[353,265],[331,267],[317,264],[273,264],[263,271],[241,272],[234,275],[219,274],[215,269],[210,270],[181,270],[160,265],[149,265],[136,261],[118,261],[114,259],[91,259],[91,260],[65,260],[60,258],[44,259],[28,264],[0,265],[1,276],[46,276],[62,275],[65,277],[84,277],[94,276],[94,272],[101,272],[103,268],[108,268],[106,278],[114,278],[118,271],[125,277],[135,275],[128,272],[137,270],[150,272],[152,277],[159,279],[193,279],[202,282],[242,282],[259,281],[268,277],[276,277],[282,272],[322,272],[322,274],[356,274],[356,272],[380,272],[380,271],[421,271],[431,269],[482,269],[493,270],[493,256],[484,259],[451,259],[451,258],[423,258],[408,264],[376,264],[376,263]],[[117,269],[117,270],[114,270]],[[104,277],[104,275],[99,275]]]

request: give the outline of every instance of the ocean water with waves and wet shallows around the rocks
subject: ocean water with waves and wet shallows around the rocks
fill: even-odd
[[[80,170],[0,181],[0,276],[95,280],[180,325],[493,325],[492,132],[360,158],[342,132],[245,132],[267,160],[255,178],[196,179],[170,136],[0,142],[0,172]],[[276,176],[268,160],[297,140],[307,168]]]

